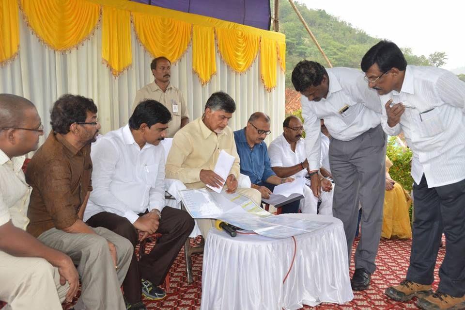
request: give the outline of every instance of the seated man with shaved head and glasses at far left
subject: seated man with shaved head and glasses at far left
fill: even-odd
[[[0,94],[0,300],[15,310],[61,310],[78,292],[69,256],[26,232],[31,188],[21,166],[44,134],[31,101]]]

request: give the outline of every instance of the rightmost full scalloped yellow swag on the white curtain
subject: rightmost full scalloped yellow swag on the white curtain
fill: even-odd
[[[231,29],[216,28],[215,31],[224,62],[236,72],[245,72],[257,57],[260,37]]]

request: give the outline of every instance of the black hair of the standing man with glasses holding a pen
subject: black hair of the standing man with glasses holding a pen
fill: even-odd
[[[381,72],[387,72],[392,68],[403,71],[407,67],[402,50],[395,43],[387,40],[373,45],[363,56],[360,66],[363,72],[367,72],[374,64],[378,65]]]

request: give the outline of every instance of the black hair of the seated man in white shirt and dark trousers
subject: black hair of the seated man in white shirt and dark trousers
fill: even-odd
[[[129,118],[129,128],[139,130],[140,125],[168,124],[171,121],[171,113],[163,104],[153,99],[140,101]]]

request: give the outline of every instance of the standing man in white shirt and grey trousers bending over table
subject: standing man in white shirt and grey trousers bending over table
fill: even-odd
[[[306,132],[305,151],[311,189],[320,195],[320,119],[331,134],[329,164],[336,183],[333,215],[344,224],[348,257],[356,232],[358,198],[362,202],[362,236],[355,253],[353,290],[366,290],[381,237],[385,191],[386,134],[380,125],[381,109],[363,73],[350,68],[325,69],[312,61],[299,62],[292,72],[295,90],[302,94]]]

